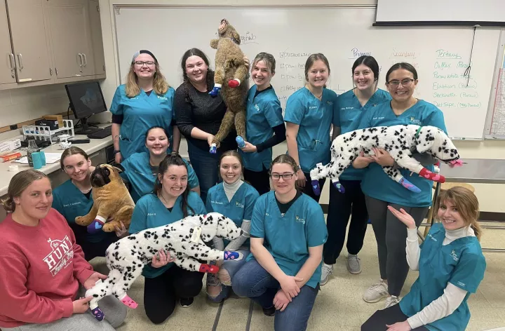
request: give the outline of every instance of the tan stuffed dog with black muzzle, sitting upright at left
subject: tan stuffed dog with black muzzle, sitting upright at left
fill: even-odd
[[[88,227],[90,234],[101,229],[105,232],[115,231],[114,227],[121,229],[120,222],[123,222],[126,229],[130,227],[135,203],[119,175],[120,171],[123,170],[109,164],[100,164],[90,175],[93,208],[88,215],[75,219],[77,224]],[[110,217],[114,219],[106,223]]]

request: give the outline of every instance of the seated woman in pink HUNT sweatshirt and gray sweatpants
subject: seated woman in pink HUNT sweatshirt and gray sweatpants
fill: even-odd
[[[99,279],[84,259],[67,221],[53,208],[48,177],[24,170],[9,183],[0,223],[1,330],[114,330],[126,317],[115,297],[100,301],[97,321],[84,292]]]

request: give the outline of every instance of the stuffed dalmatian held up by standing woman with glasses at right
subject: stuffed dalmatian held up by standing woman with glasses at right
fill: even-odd
[[[333,186],[344,193],[345,189],[339,182],[339,175],[351,165],[361,151],[365,156],[373,155],[373,147],[388,151],[400,168],[408,169],[435,182],[443,183],[445,177],[424,168],[415,158],[412,158],[412,152],[430,154],[433,158],[438,158],[451,167],[462,165],[452,141],[442,130],[434,126],[378,126],[354,130],[339,135],[333,140],[330,148],[330,163],[327,165],[318,163],[316,168],[311,170],[311,184],[314,193],[321,194],[318,180],[324,177],[330,177]],[[403,187],[410,189],[410,191],[420,192],[418,187],[401,175],[398,168],[390,166],[382,168],[392,180],[400,183]]]

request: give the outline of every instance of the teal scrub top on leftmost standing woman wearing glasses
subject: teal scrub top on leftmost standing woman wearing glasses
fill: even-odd
[[[174,116],[173,98],[175,90],[168,88],[164,95],[157,95],[152,91],[150,95],[140,90],[135,97],[126,96],[126,85],[116,88],[110,111],[114,115],[123,115],[121,123],[121,140],[119,149],[123,160],[135,152],[146,151],[145,134],[152,126],[161,126],[172,135],[172,119]],[[173,139],[170,139],[170,146]]]

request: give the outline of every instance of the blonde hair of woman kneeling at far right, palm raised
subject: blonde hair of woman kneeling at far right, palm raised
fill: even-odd
[[[438,212],[440,205],[443,205],[445,202],[450,202],[456,206],[459,215],[464,219],[465,225],[473,229],[477,239],[480,241],[482,229],[478,223],[479,204],[476,195],[469,189],[466,189],[466,187],[452,187],[440,191],[435,210]]]

